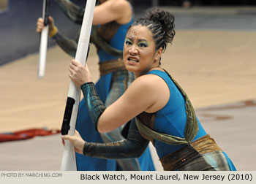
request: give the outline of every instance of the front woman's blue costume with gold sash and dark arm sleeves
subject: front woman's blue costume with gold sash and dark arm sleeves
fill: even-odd
[[[155,74],[165,80],[170,99],[165,107],[154,113],[142,112],[131,120],[127,139],[100,144],[85,142],[83,154],[97,158],[136,158],[148,146],[156,147],[164,170],[236,170],[230,158],[201,126],[187,94],[173,78],[159,70]],[[94,126],[105,106],[96,93],[94,83],[81,86]]]

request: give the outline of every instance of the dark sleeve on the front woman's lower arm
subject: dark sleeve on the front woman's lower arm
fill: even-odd
[[[135,119],[132,119],[127,139],[110,143],[86,142],[83,154],[97,158],[138,158],[146,150],[148,142],[140,135]]]

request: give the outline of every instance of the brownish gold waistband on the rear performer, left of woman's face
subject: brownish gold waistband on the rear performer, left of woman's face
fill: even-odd
[[[99,63],[100,75],[109,74],[118,70],[126,70],[122,60],[109,60]]]

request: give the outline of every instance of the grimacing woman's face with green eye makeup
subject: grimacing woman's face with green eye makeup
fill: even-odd
[[[138,77],[159,66],[151,31],[146,26],[132,26],[124,41],[124,65]]]

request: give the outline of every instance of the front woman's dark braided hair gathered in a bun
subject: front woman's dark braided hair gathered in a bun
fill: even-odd
[[[162,47],[162,50],[165,51],[167,43],[173,42],[175,36],[174,16],[164,9],[149,9],[145,16],[132,23],[132,26],[137,25],[146,26],[151,31],[156,50]]]

